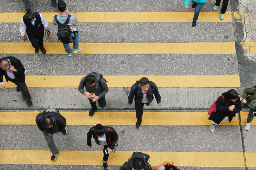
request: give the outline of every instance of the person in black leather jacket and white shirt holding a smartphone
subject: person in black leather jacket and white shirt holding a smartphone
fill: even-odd
[[[101,124],[97,124],[90,128],[87,133],[87,146],[92,149],[92,137],[94,138],[96,144],[104,145],[103,148],[103,168],[105,170],[108,169],[108,156],[112,153],[114,147],[118,146],[118,134],[117,132],[108,126],[102,126]],[[106,153],[107,152],[107,153]],[[115,151],[114,151],[115,152]]]

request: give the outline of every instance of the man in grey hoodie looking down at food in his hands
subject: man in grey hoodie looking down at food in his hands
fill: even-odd
[[[105,94],[108,93],[108,85],[106,82],[106,79],[104,79],[101,74],[96,72],[89,73],[80,81],[78,90],[80,91],[80,93],[85,94],[92,106],[92,109],[89,111],[90,117],[94,115],[94,112],[97,109],[97,100],[101,108],[106,107]],[[84,88],[86,89],[86,91],[84,90]],[[92,97],[91,93],[95,93],[95,96]]]

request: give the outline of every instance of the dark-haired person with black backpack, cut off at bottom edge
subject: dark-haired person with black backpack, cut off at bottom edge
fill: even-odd
[[[120,170],[152,170],[148,163],[149,155],[141,152],[133,152],[133,155],[124,162]]]

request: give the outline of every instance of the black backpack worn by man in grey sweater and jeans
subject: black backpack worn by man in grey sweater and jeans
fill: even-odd
[[[60,23],[57,19],[58,15],[54,16],[54,19],[56,21],[56,23],[58,24],[58,41],[60,40],[63,44],[69,44],[71,42],[73,42],[73,39],[76,39],[76,36],[71,36],[71,30],[68,24],[71,15],[67,15],[67,20],[65,21],[65,23]]]

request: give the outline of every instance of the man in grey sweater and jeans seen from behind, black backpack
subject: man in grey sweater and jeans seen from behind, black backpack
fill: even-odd
[[[73,42],[74,53],[82,50],[82,47],[78,46],[78,30],[74,26],[74,23],[78,23],[78,20],[69,12],[65,2],[61,1],[57,6],[60,13],[55,15],[52,20],[54,25],[58,26],[58,40],[63,43],[65,51],[71,57],[69,43]]]

